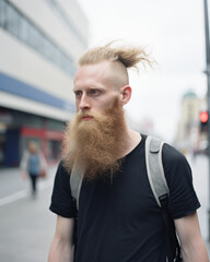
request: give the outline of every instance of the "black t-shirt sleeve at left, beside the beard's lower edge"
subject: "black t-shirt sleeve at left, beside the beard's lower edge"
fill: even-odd
[[[62,162],[60,162],[54,181],[49,210],[57,215],[72,218],[77,216],[77,205],[71,196],[69,180],[70,175],[65,169]]]

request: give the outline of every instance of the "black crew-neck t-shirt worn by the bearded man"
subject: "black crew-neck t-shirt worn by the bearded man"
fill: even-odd
[[[83,181],[74,262],[165,262],[164,223],[147,176],[144,143],[142,135],[113,180]],[[164,144],[163,166],[173,218],[196,211],[200,204],[186,158]],[[56,174],[50,211],[63,217],[77,216],[62,163]]]

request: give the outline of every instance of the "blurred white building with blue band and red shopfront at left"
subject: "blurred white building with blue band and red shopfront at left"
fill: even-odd
[[[18,166],[31,139],[60,157],[88,24],[75,0],[0,0],[0,166]]]

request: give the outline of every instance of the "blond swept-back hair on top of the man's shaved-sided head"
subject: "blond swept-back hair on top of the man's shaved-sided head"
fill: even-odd
[[[138,64],[141,63],[145,66],[147,63],[151,66],[151,61],[149,59],[149,55],[141,47],[114,47],[113,44],[115,41],[110,41],[107,45],[94,47],[84,52],[79,59],[79,66],[84,64],[94,64],[102,61],[119,61],[127,69],[135,68],[138,69]]]

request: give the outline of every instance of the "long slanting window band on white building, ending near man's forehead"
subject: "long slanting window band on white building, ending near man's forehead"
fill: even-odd
[[[73,60],[5,0],[0,0],[0,26],[73,75]]]

